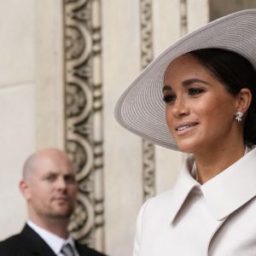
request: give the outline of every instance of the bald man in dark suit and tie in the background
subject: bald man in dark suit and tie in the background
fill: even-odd
[[[20,181],[28,220],[20,234],[0,242],[0,255],[104,256],[68,233],[77,189],[73,164],[61,150],[48,148],[32,154]]]

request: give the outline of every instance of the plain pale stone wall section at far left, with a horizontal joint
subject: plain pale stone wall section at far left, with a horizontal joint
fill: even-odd
[[[0,239],[19,231],[23,161],[35,148],[34,1],[0,2]],[[18,209],[18,210],[17,210]]]

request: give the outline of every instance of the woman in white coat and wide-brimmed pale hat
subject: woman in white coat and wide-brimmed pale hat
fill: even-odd
[[[256,9],[215,20],[119,99],[121,125],[189,154],[174,188],[139,212],[134,256],[256,255],[255,31]]]

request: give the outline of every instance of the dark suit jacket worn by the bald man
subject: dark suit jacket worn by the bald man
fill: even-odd
[[[75,242],[80,256],[105,256],[85,245]],[[24,229],[15,236],[10,236],[4,241],[0,241],[1,256],[56,256],[48,244],[38,236],[27,224]]]

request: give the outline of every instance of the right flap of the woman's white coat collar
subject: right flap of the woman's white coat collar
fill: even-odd
[[[256,195],[256,148],[201,186],[218,220],[235,212]]]

